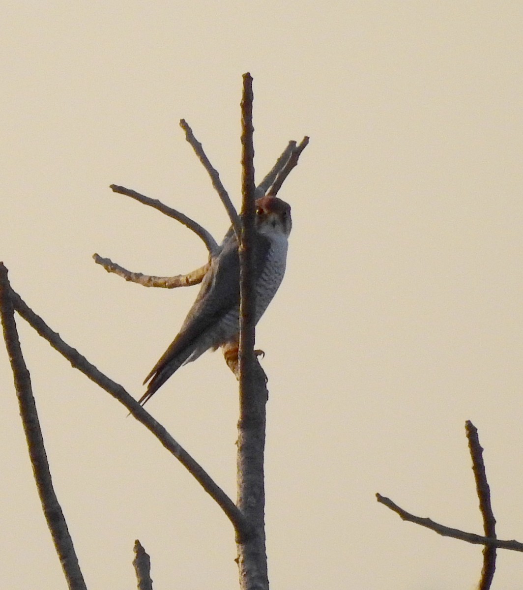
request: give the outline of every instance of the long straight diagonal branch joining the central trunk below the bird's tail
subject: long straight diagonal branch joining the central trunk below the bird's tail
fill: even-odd
[[[142,406],[134,399],[127,391],[108,378],[104,373],[98,371],[96,366],[91,365],[87,359],[84,358],[77,350],[69,346],[64,340],[61,339],[60,335],[53,332],[51,328],[42,320],[40,316],[37,316],[21,299],[21,297],[11,291],[12,302],[17,312],[29,323],[32,327],[47,340],[52,348],[58,350],[74,368],[78,369],[91,381],[99,385],[102,389],[112,395],[113,398],[117,399],[123,404],[129,413],[141,422],[144,427],[147,428],[152,434],[162,443],[162,445],[174,455],[177,460],[189,471],[190,474],[198,481],[203,489],[212,497],[213,500],[221,507],[223,512],[232,525],[235,527],[238,535],[248,535],[250,527],[246,522],[244,515],[238,510],[233,501],[227,496],[227,494],[212,480],[208,473],[201,467],[189,453],[178,443],[176,440],[167,432],[159,422],[157,422]]]

